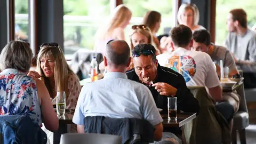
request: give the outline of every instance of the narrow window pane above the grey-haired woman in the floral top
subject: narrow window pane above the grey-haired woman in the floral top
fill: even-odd
[[[28,42],[28,0],[15,0],[15,39]]]

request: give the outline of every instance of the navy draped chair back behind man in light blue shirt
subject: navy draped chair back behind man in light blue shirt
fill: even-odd
[[[113,134],[122,137],[122,143],[154,142],[155,127],[146,119],[87,116],[84,132]]]

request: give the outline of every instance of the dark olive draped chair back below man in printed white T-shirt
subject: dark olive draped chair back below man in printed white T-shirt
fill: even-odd
[[[203,86],[188,86],[198,100],[200,110],[193,121],[184,126],[188,143],[221,143],[222,129],[217,121],[215,107]]]

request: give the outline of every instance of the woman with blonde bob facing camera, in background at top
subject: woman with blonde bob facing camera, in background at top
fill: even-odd
[[[177,17],[179,24],[189,27],[193,33],[196,30],[205,29],[203,26],[198,25],[199,10],[195,4],[181,4]]]

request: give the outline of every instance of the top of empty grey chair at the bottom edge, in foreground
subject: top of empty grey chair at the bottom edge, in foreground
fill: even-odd
[[[62,134],[60,144],[98,144],[113,143],[121,144],[121,137],[110,134],[99,133],[66,133]]]

